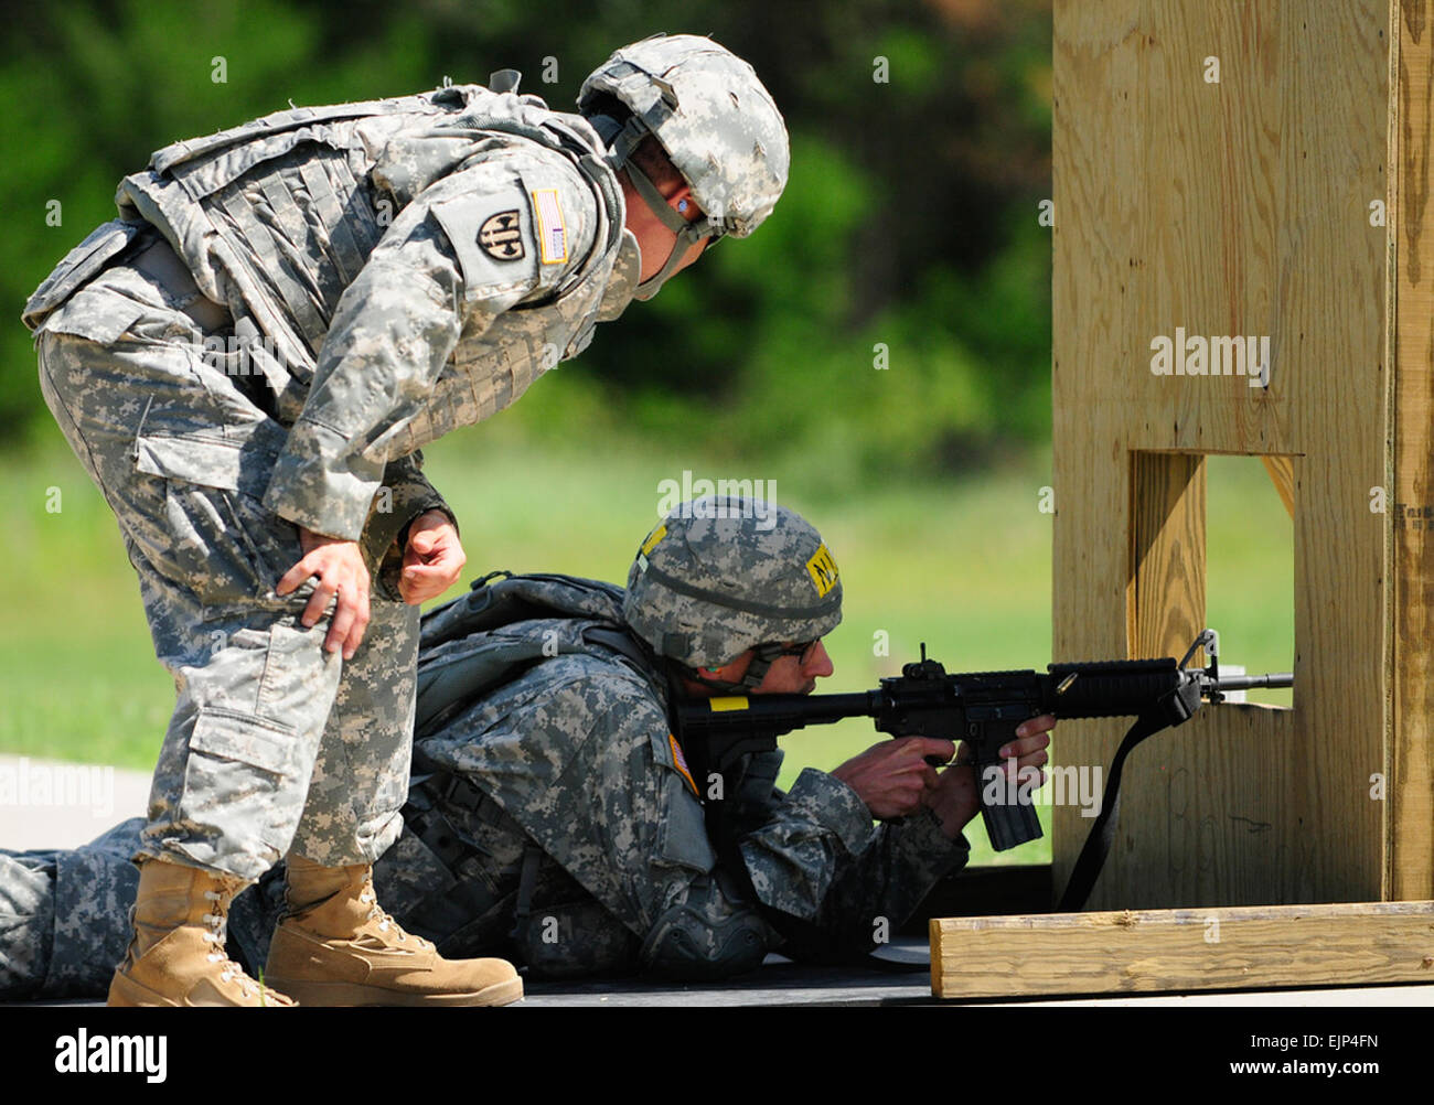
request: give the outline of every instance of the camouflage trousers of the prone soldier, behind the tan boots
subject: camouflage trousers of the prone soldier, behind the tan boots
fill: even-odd
[[[551,857],[533,880],[529,923],[513,930],[521,867],[531,841],[511,818],[455,811],[478,846],[447,867],[406,827],[373,867],[379,901],[450,959],[502,956],[533,977],[631,973],[638,940]],[[130,937],[142,818],[80,848],[0,850],[0,1002],[103,998]],[[228,952],[257,976],[284,912],[284,864],[234,899]],[[561,940],[552,940],[554,933]],[[516,939],[515,939],[516,937]]]

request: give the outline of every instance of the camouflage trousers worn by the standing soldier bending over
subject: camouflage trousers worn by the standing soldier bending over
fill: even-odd
[[[139,856],[247,880],[291,848],[367,863],[402,831],[419,608],[376,579],[343,661],[327,618],[300,621],[314,582],[274,592],[303,555],[261,502],[285,430],[204,355],[227,322],[161,241],[37,338],[44,400],[115,512],[178,691]]]

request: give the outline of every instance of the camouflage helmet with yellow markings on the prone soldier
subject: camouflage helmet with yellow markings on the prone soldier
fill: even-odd
[[[815,641],[842,621],[842,582],[822,535],[774,503],[706,496],[647,535],[628,572],[622,616],[660,656],[695,676],[756,649],[740,685],[761,682],[783,642]]]

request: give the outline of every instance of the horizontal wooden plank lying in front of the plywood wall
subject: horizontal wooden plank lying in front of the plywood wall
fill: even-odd
[[[938,998],[1434,982],[1434,901],[931,923]]]

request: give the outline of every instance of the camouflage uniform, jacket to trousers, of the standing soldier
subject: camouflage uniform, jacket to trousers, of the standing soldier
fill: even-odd
[[[155,153],[27,304],[178,689],[141,854],[255,879],[397,838],[419,628],[397,565],[447,510],[419,447],[632,298],[602,153],[581,116],[479,86],[280,112]],[[313,580],[274,593],[297,526],[364,549],[350,661],[300,621]]]

